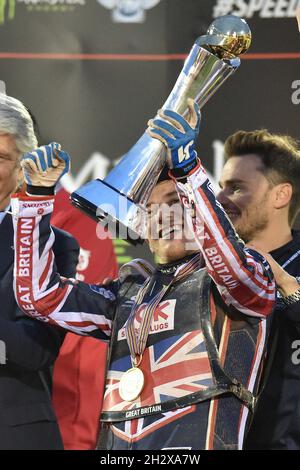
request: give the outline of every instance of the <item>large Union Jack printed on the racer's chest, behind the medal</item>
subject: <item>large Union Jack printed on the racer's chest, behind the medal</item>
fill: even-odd
[[[132,403],[122,401],[119,382],[131,367],[130,357],[113,362],[107,376],[103,411],[147,407],[174,400],[213,385],[208,355],[201,331],[171,336],[148,347],[141,368],[145,387]]]

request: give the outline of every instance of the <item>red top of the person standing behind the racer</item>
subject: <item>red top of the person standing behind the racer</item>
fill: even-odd
[[[77,275],[80,280],[97,284],[105,277],[116,277],[111,240],[97,237],[96,223],[71,205],[64,189],[56,196],[51,222],[77,239],[81,248]],[[103,233],[99,225],[97,231]],[[66,335],[53,378],[53,404],[65,449],[95,449],[106,352],[106,345],[99,340]]]

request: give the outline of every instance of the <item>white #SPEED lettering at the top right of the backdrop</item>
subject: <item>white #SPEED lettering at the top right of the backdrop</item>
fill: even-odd
[[[243,18],[295,18],[300,0],[216,0],[213,18],[237,15]]]

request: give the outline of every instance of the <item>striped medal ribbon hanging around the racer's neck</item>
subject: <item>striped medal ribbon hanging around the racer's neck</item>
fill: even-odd
[[[147,339],[149,336],[153,313],[158,304],[161,302],[162,298],[165,296],[171,286],[173,286],[176,282],[179,282],[185,277],[189,276],[193,272],[197,271],[200,267],[201,255],[200,253],[197,253],[190,261],[180,266],[176,270],[171,282],[167,286],[164,286],[146,305],[141,319],[139,331],[136,332],[134,320],[137,313],[137,309],[142,305],[144,297],[148,292],[149,288],[153,286],[153,278],[150,277],[144,282],[143,286],[138,292],[136,301],[132,307],[129,318],[125,325],[126,338],[133,366],[138,367],[141,362],[142,355],[145,350]]]

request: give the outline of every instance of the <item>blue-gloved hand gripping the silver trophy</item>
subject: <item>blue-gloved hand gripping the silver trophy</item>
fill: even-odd
[[[174,176],[186,176],[197,166],[195,140],[200,129],[200,109],[192,99],[188,99],[189,115],[187,120],[171,110],[159,110],[160,119],[148,122],[147,133],[159,139],[168,149],[167,162]]]

